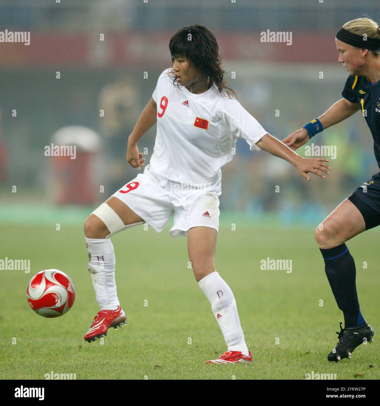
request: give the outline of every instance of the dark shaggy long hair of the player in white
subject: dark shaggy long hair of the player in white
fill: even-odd
[[[169,50],[172,58],[186,56],[189,64],[193,64],[197,71],[208,77],[207,90],[215,84],[221,95],[237,97],[236,92],[227,86],[229,81],[224,80],[226,72],[221,65],[215,35],[205,26],[192,24],[181,28],[170,39]],[[174,75],[173,84],[179,86]]]

